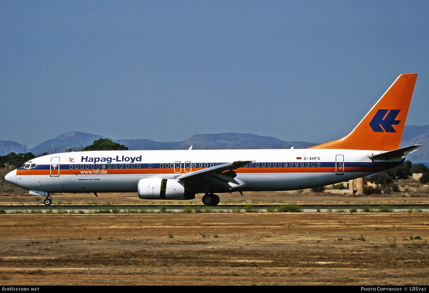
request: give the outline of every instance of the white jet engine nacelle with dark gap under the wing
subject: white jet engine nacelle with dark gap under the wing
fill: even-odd
[[[140,179],[137,190],[141,199],[185,199],[184,182],[176,179]]]

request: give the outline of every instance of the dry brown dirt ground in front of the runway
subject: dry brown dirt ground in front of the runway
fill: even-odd
[[[3,285],[427,284],[427,213],[0,215]]]

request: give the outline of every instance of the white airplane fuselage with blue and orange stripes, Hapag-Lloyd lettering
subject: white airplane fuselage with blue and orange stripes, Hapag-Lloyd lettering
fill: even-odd
[[[344,182],[400,162],[374,163],[380,151],[351,149],[136,150],[45,155],[7,174],[15,185],[46,192],[136,192],[140,179],[175,178],[233,161],[233,191],[286,191]],[[167,167],[168,166],[168,167]],[[222,190],[211,190],[223,192]],[[202,191],[196,190],[196,193]]]

